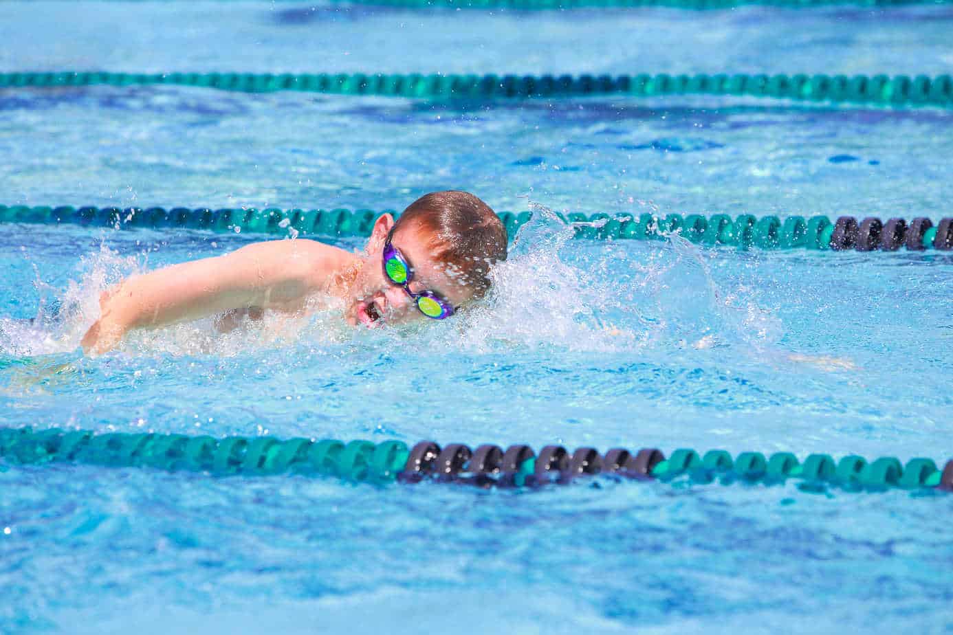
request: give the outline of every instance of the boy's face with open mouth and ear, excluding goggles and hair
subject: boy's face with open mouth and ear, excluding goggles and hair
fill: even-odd
[[[367,260],[357,274],[352,296],[344,312],[348,323],[353,326],[376,327],[381,323],[431,321],[416,308],[414,299],[384,274],[381,266],[384,243],[393,227],[394,218],[390,214],[382,215],[375,222],[367,244]],[[400,250],[414,268],[410,282],[413,293],[432,291],[455,308],[459,307],[470,300],[473,293],[457,282],[459,276],[452,267],[436,259],[430,243],[426,230],[411,225],[398,228],[391,244]]]

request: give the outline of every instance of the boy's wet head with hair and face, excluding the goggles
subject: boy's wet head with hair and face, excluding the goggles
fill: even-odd
[[[416,300],[385,273],[388,241],[411,267],[408,289],[414,294],[430,291],[453,308],[484,295],[490,288],[490,268],[506,260],[506,228],[483,201],[454,190],[422,196],[396,222],[390,214],[375,221],[367,260],[346,309],[351,324],[427,319]],[[427,303],[423,308],[430,309]]]

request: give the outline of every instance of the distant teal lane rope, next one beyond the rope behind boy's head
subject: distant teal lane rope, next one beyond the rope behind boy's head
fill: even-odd
[[[0,73],[6,87],[178,85],[246,92],[304,90],[348,95],[391,95],[448,100],[714,94],[829,101],[872,106],[953,108],[953,77],[939,75],[458,75],[253,73]]]

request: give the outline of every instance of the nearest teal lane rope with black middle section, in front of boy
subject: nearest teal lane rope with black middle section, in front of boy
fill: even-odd
[[[348,481],[387,484],[436,481],[479,487],[568,485],[597,476],[613,479],[688,479],[692,483],[779,485],[796,481],[801,489],[847,491],[953,489],[953,460],[943,469],[930,459],[895,457],[867,461],[848,455],[839,461],[811,454],[803,462],[790,452],[765,456],[724,450],[701,454],[677,449],[668,458],[654,447],[637,452],[613,448],[604,455],[592,447],[569,451],[545,446],[463,444],[440,447],[422,441],[344,443],[332,439],[280,440],[273,437],[186,436],[30,427],[0,428],[0,458],[16,465],[80,463],[98,466],[195,470],[216,475],[265,476],[280,473],[336,476]]]

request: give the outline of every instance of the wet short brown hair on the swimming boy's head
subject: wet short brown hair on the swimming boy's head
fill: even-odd
[[[490,268],[506,260],[506,228],[486,203],[465,191],[431,192],[404,209],[394,229],[416,226],[430,233],[437,262],[457,271],[460,283],[480,297],[490,288]]]

